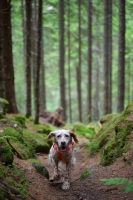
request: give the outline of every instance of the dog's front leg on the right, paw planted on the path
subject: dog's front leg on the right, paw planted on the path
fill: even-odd
[[[72,166],[70,163],[66,165],[67,175],[64,178],[64,182],[62,185],[63,190],[68,190],[70,188],[71,167]]]

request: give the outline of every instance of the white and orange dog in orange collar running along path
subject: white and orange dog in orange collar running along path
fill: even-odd
[[[76,163],[74,157],[74,142],[78,143],[76,134],[71,130],[60,129],[51,132],[47,139],[54,137],[53,145],[49,153],[49,161],[54,164],[54,175],[50,181],[60,180],[59,163],[66,164],[67,176],[64,177],[62,189],[70,188],[70,175],[72,166]]]

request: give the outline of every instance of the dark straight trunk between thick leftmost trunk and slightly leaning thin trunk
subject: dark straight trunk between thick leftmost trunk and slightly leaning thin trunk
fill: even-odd
[[[32,0],[26,0],[26,117],[31,116],[31,13]]]

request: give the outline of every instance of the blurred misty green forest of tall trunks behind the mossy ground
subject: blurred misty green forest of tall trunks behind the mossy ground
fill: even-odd
[[[122,112],[133,96],[133,1],[1,0],[0,97],[9,113],[64,108],[67,122]]]

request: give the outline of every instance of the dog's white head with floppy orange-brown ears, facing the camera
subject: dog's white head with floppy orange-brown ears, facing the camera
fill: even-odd
[[[49,133],[47,139],[50,139],[51,137],[54,137],[54,142],[60,151],[66,151],[73,140],[78,143],[76,134],[67,129],[52,131]]]

